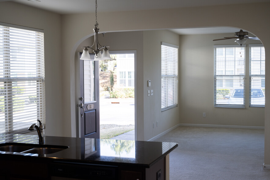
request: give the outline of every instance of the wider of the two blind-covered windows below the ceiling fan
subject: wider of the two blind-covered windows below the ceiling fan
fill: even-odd
[[[245,107],[245,45],[214,46],[214,106]]]

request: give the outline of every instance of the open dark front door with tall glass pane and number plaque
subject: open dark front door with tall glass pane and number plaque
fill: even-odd
[[[80,86],[80,137],[99,138],[98,61],[80,60]]]

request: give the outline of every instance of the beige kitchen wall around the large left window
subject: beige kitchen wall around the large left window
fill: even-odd
[[[13,2],[0,2],[0,22],[44,30],[46,135],[62,136],[61,16]]]

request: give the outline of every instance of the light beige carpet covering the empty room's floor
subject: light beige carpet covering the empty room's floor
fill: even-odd
[[[270,180],[264,130],[180,126],[156,141],[176,142],[170,180]]]

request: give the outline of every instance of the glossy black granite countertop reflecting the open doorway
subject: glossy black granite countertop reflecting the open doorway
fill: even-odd
[[[37,135],[0,134],[3,143],[38,144]],[[79,162],[94,164],[125,163],[150,167],[159,159],[174,150],[178,144],[173,142],[129,141],[112,139],[92,139],[75,137],[45,137],[45,144],[68,146],[69,148],[52,154],[30,154],[0,151],[0,157],[45,158],[54,162]],[[45,160],[44,159],[44,160]]]

